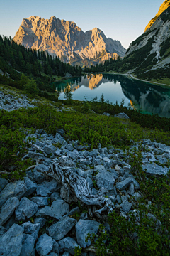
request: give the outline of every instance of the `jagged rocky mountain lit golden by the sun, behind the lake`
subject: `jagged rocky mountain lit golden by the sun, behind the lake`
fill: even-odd
[[[106,38],[98,28],[84,33],[76,23],[55,17],[23,18],[13,40],[25,47],[57,55],[64,62],[81,66],[117,59],[118,55],[123,57],[126,52],[120,41]]]

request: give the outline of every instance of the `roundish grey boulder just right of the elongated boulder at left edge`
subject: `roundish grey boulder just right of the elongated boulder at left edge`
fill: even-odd
[[[22,198],[18,208],[16,208],[16,220],[26,220],[32,217],[38,211],[38,205],[28,198]]]

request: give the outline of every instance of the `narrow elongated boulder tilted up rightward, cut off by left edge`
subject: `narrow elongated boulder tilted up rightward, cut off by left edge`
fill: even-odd
[[[19,199],[16,197],[9,198],[6,203],[4,203],[4,206],[1,208],[1,214],[0,214],[0,225],[4,225],[6,221],[13,215],[14,210],[19,205]]]

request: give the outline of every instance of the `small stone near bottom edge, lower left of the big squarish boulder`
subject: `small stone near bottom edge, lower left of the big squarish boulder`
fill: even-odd
[[[69,252],[71,255],[75,254],[74,248],[79,246],[77,245],[77,242],[73,238],[69,238],[69,237],[63,238],[58,243],[60,246],[60,252],[66,251],[66,252]]]

